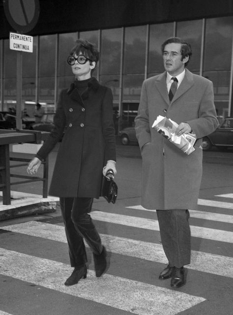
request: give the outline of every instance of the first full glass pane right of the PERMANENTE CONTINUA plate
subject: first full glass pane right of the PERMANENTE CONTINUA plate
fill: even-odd
[[[56,35],[40,36],[39,76],[55,75]]]

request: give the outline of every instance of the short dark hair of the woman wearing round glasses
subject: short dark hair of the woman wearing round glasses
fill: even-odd
[[[76,45],[72,48],[70,55],[76,54],[78,56],[80,53],[95,63],[99,60],[99,51],[97,50],[96,45],[90,43],[88,40],[76,40]]]

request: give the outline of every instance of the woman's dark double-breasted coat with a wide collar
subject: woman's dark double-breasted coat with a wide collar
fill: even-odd
[[[59,95],[54,124],[36,155],[46,158],[64,132],[49,194],[98,198],[103,166],[107,160],[116,160],[111,89],[91,78],[81,97],[73,83]]]

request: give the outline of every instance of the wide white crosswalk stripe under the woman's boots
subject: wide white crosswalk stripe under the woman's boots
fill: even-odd
[[[2,275],[37,284],[76,297],[95,301],[138,315],[175,315],[203,301],[197,297],[105,274],[96,278],[89,271],[87,279],[66,287],[63,282],[70,275],[70,267],[58,261],[0,249]],[[25,272],[27,270],[27,272]],[[176,303],[179,301],[179,303]]]

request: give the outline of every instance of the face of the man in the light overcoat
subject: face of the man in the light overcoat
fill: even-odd
[[[181,44],[170,43],[164,47],[163,51],[163,63],[164,68],[173,77],[180,74],[184,70],[184,63],[188,61],[189,57],[185,57],[182,61],[182,55],[180,53]]]

